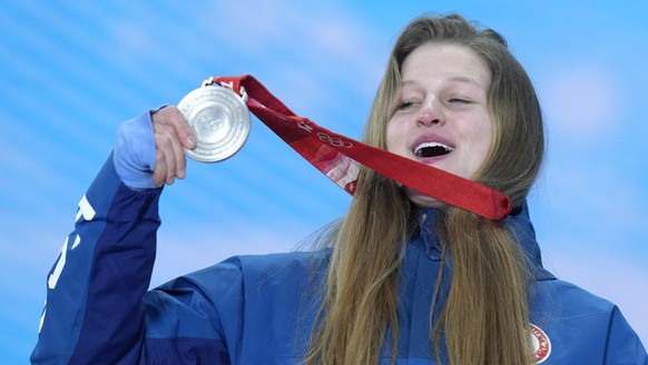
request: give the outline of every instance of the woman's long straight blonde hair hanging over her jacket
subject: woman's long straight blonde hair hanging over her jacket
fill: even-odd
[[[363,140],[385,148],[385,128],[394,110],[402,63],[428,42],[468,47],[489,66],[493,142],[475,180],[507,194],[514,208],[521,207],[544,151],[540,106],[529,77],[504,39],[490,29],[478,29],[461,16],[420,18],[403,30]],[[387,328],[395,362],[396,277],[404,247],[416,229],[415,216],[416,208],[393,180],[361,170],[350,210],[331,238],[333,255],[306,364],[376,364]],[[436,226],[444,260],[452,256],[450,293],[444,295],[435,323],[430,315],[430,343],[436,359],[445,346],[448,361],[454,365],[530,364],[532,346],[526,326],[531,277],[514,235],[499,221],[451,206],[441,209]],[[446,274],[438,277],[431,310],[440,303],[442,275]]]

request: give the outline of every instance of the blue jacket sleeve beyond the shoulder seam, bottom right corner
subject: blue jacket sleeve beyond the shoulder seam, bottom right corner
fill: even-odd
[[[610,316],[605,364],[648,365],[641,341],[616,306]]]

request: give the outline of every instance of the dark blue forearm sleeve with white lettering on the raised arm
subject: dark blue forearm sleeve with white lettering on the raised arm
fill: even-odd
[[[145,362],[145,306],[161,189],[121,182],[112,156],[79,203],[75,230],[47,277],[33,364]]]

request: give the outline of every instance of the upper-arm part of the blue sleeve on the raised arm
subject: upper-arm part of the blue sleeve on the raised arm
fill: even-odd
[[[147,361],[240,364],[243,282],[240,265],[230,260],[148,292],[144,297]]]

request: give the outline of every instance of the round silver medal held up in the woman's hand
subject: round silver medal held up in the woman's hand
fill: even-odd
[[[186,154],[197,161],[217,162],[229,158],[249,136],[249,110],[230,88],[205,81],[180,100],[178,109],[196,135],[196,148],[187,149]]]

